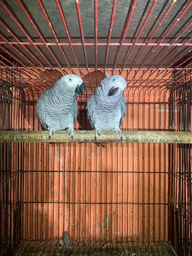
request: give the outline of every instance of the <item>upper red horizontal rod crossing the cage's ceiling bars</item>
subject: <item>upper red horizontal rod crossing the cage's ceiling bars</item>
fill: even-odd
[[[0,44],[7,44],[6,42],[0,42]],[[12,45],[46,45],[46,46],[83,46],[82,43],[30,43],[30,42],[9,42]],[[95,46],[95,43],[84,43],[85,46]],[[106,46],[107,43],[97,43],[97,46]],[[109,43],[109,46],[120,46],[120,43]],[[123,43],[123,46],[132,46],[133,43]],[[136,43],[134,46],[192,46],[192,43]]]

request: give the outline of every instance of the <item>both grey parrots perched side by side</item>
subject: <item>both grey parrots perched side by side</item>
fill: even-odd
[[[113,75],[102,80],[87,101],[87,118],[95,140],[100,131],[116,131],[122,139],[119,126],[126,114],[126,99],[123,95],[126,81],[122,76]],[[84,93],[85,85],[77,75],[62,76],[50,89],[42,93],[36,104],[36,111],[49,138],[57,130],[68,129],[73,139],[74,123],[77,118],[77,100]]]

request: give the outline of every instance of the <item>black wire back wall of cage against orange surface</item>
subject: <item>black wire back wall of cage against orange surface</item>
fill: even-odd
[[[40,89],[44,88],[18,89],[25,94],[21,104],[23,129],[42,129],[35,111]],[[22,99],[20,94],[17,96]],[[169,89],[127,88],[125,96],[130,101],[123,129],[167,129]],[[78,100],[80,116],[76,129],[89,129],[85,121],[86,101],[86,98]],[[17,124],[14,129],[19,127]],[[11,177],[4,177],[1,193],[4,195],[5,189],[9,198],[12,189],[14,195],[22,191],[22,195],[17,194],[16,208],[21,213],[21,220],[16,224],[20,236],[15,241],[14,236],[5,234],[15,246],[23,239],[58,241],[64,230],[72,241],[148,241],[150,244],[169,239],[167,145],[112,143],[106,149],[90,143],[13,143],[11,146],[17,151],[2,155],[2,159],[6,162],[9,158],[11,163],[17,159],[20,164],[16,164],[15,170],[20,177],[15,181],[15,188],[8,185]],[[2,166],[2,170],[6,168]],[[6,228],[12,230],[12,225]],[[8,243],[6,246],[13,247]]]

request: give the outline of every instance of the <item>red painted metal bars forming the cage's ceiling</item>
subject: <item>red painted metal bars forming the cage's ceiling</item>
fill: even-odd
[[[8,39],[6,37],[4,37],[3,35],[1,35],[0,37],[4,40],[3,42],[0,42],[0,45],[9,45],[14,51],[16,51],[20,56],[20,57],[17,57],[17,56],[13,56],[14,53],[12,52],[8,52],[4,47],[1,47],[1,49],[8,53],[9,56],[11,56],[12,59],[16,60],[17,62],[17,65],[14,65],[14,67],[17,67],[18,69],[20,70],[23,70],[22,72],[25,72],[25,74],[27,75],[26,73],[26,70],[28,70],[28,76],[39,76],[42,72],[42,70],[47,70],[49,72],[49,70],[63,70],[64,67],[61,67],[61,64],[57,58],[57,56],[52,52],[52,49],[51,49],[51,46],[58,46],[60,48],[60,51],[62,52],[66,62],[67,62],[67,65],[68,65],[68,68],[65,68],[66,70],[70,70],[70,72],[74,72],[76,70],[79,71],[80,75],[82,76],[83,73],[82,71],[83,70],[87,70],[88,72],[88,77],[89,77],[89,82],[91,83],[91,79],[90,79],[90,72],[91,70],[95,70],[96,71],[96,83],[97,83],[97,71],[105,71],[107,67],[107,59],[108,59],[108,52],[109,52],[109,47],[110,46],[118,46],[118,49],[117,49],[117,52],[116,52],[116,58],[114,60],[114,63],[112,64],[112,67],[113,68],[108,68],[109,70],[112,70],[112,74],[114,72],[114,70],[119,70],[119,68],[116,68],[116,64],[117,64],[117,61],[118,61],[118,58],[120,56],[120,52],[122,50],[122,47],[123,46],[131,46],[131,51],[129,52],[128,56],[125,58],[125,61],[123,63],[123,66],[121,68],[121,71],[120,71],[120,74],[122,72],[122,70],[127,70],[127,77],[129,75],[129,71],[131,70],[135,70],[137,72],[135,72],[134,74],[134,77],[133,77],[133,81],[134,82],[139,82],[140,78],[143,77],[145,75],[145,73],[148,71],[148,70],[151,70],[152,73],[150,74],[150,76],[152,76],[156,70],[160,70],[160,74],[163,74],[163,72],[165,70],[183,70],[183,68],[180,68],[181,65],[185,64],[187,61],[190,60],[190,57],[188,57],[187,59],[183,60],[183,58],[185,57],[185,55],[188,54],[188,52],[184,53],[182,56],[179,57],[179,54],[181,52],[182,49],[184,49],[184,47],[191,47],[192,46],[192,43],[191,43],[191,38],[186,42],[180,42],[180,43],[177,43],[178,42],[178,39],[185,33],[188,31],[188,29],[191,27],[192,25],[192,22],[190,24],[188,24],[188,26],[183,29],[180,33],[179,36],[177,36],[177,38],[172,42],[170,40],[170,43],[164,43],[164,39],[167,39],[167,36],[168,34],[172,31],[172,29],[175,27],[175,25],[179,22],[179,20],[184,16],[184,14],[187,12],[187,10],[189,10],[189,8],[191,7],[191,4],[192,4],[192,1],[189,1],[188,5],[186,3],[186,7],[184,8],[184,10],[181,11],[181,13],[179,14],[179,17],[174,21],[174,23],[171,25],[171,27],[169,28],[169,30],[166,32],[166,34],[163,36],[163,38],[160,40],[159,43],[151,43],[151,40],[154,39],[154,36],[157,32],[157,30],[160,28],[160,26],[162,25],[162,23],[164,22],[165,18],[167,17],[167,15],[170,13],[170,11],[172,10],[173,8],[173,5],[174,3],[176,2],[175,0],[172,1],[172,3],[169,5],[167,11],[165,12],[163,18],[161,19],[161,21],[158,23],[158,25],[156,26],[154,32],[152,33],[152,35],[150,36],[150,38],[148,39],[147,42],[145,43],[138,43],[137,41],[140,39],[140,35],[144,29],[144,27],[146,26],[147,24],[147,21],[149,19],[149,17],[152,15],[151,13],[154,11],[154,8],[155,8],[155,5],[157,3],[157,0],[155,0],[152,4],[152,7],[150,8],[148,14],[147,14],[147,17],[145,18],[145,21],[139,31],[139,34],[138,36],[136,37],[134,43],[124,43],[124,40],[126,38],[126,34],[127,34],[127,31],[128,31],[128,28],[129,28],[129,25],[130,25],[130,22],[132,20],[132,15],[134,13],[134,9],[135,9],[135,6],[136,6],[136,3],[137,1],[136,0],[133,0],[132,1],[132,6],[130,7],[130,14],[129,14],[129,18],[128,20],[126,21],[127,23],[124,25],[124,31],[122,31],[122,36],[120,38],[120,41],[119,43],[110,43],[110,40],[111,40],[111,35],[112,35],[112,28],[113,28],[113,23],[114,23],[114,16],[115,16],[115,11],[116,11],[116,3],[117,1],[114,0],[113,1],[113,7],[112,7],[112,12],[111,12],[111,20],[110,20],[110,25],[109,25],[109,31],[108,31],[108,38],[107,38],[107,43],[98,43],[98,13],[97,13],[97,8],[98,8],[98,2],[97,0],[94,1],[94,29],[95,29],[95,42],[94,43],[85,43],[85,38],[84,38],[84,33],[83,33],[83,26],[82,26],[82,21],[81,21],[81,13],[80,13],[80,8],[79,8],[79,1],[76,0],[76,11],[77,11],[77,17],[78,17],[78,22],[79,22],[79,28],[80,28],[80,34],[81,34],[81,43],[72,43],[72,40],[71,40],[71,36],[69,34],[69,30],[68,30],[68,26],[67,26],[67,22],[66,22],[66,19],[65,19],[65,16],[64,16],[64,13],[63,13],[63,9],[61,7],[61,4],[60,4],[60,1],[59,0],[55,0],[56,4],[57,4],[57,8],[59,10],[59,13],[60,13],[60,16],[61,16],[61,19],[62,19],[62,22],[63,22],[63,25],[64,25],[64,28],[66,30],[66,33],[67,33],[67,37],[68,37],[68,43],[60,43],[59,42],[59,39],[56,35],[56,32],[51,24],[51,20],[50,18],[48,17],[47,13],[46,13],[46,10],[44,8],[44,5],[42,3],[41,0],[37,0],[43,14],[44,14],[44,17],[52,31],[52,34],[56,40],[56,43],[48,43],[45,41],[44,37],[41,35],[41,33],[39,32],[38,28],[36,27],[35,23],[33,22],[33,19],[30,17],[30,14],[26,11],[24,5],[22,4],[22,2],[20,0],[17,0],[17,3],[19,4],[21,10],[24,12],[24,14],[27,16],[28,20],[30,21],[30,23],[32,24],[33,28],[35,29],[35,31],[37,32],[39,38],[41,39],[41,42],[34,42],[32,40],[32,38],[29,36],[29,33],[24,29],[22,28],[22,25],[21,23],[16,19],[16,17],[14,16],[13,12],[9,10],[9,8],[4,4],[4,2],[0,2],[0,5],[2,6],[2,8],[4,9],[4,11],[9,15],[9,17],[14,21],[14,23],[18,26],[18,28],[20,28],[20,30],[22,31],[22,33],[26,36],[26,39],[29,41],[29,42],[20,42],[20,39],[17,37],[17,35],[14,35],[11,31],[9,31],[9,28],[6,26],[6,23],[3,23],[2,21],[0,21],[0,24],[3,26],[3,28],[12,36],[12,38],[15,40],[15,42],[11,42],[8,41]],[[5,1],[6,3],[6,1]],[[183,5],[184,6],[184,5]],[[145,39],[147,40],[147,39]],[[25,51],[19,51],[19,48],[17,48],[17,45],[20,45],[22,47],[22,49],[24,49],[31,57],[31,58],[28,58],[25,54]],[[36,51],[38,51],[40,53],[40,55],[44,58],[44,60],[46,61],[46,63],[48,64],[49,67],[44,67],[46,64],[42,64],[40,62],[40,60],[37,58],[37,56],[32,52],[32,51],[29,51],[29,48],[27,46],[30,46],[32,45],[33,47],[35,47]],[[58,67],[54,67],[51,63],[51,61],[49,60],[49,58],[47,58],[43,52],[43,50],[41,50],[40,47],[38,46],[46,46],[46,48],[48,49],[48,51],[51,53],[52,57],[54,58],[54,60],[56,61]],[[71,67],[71,64],[70,64],[70,61],[68,61],[67,59],[67,56],[62,48],[62,46],[69,46],[71,47],[72,49],[72,52],[73,52],[73,55],[74,55],[74,58],[76,60],[76,65],[77,65],[77,68],[72,68]],[[77,59],[77,56],[76,56],[76,52],[74,50],[74,46],[82,46],[83,47],[83,51],[84,51],[84,58],[85,58],[85,63],[86,63],[86,68],[84,68],[85,65],[81,65],[79,64],[78,62],[78,59]],[[93,65],[91,65],[91,67],[89,68],[89,63],[88,63],[88,60],[87,60],[87,54],[86,54],[86,46],[93,46],[95,48],[95,67],[93,68]],[[98,55],[98,46],[106,46],[106,52],[105,52],[105,60],[104,60],[104,66],[102,68],[98,68],[98,58],[97,58],[97,55]],[[142,51],[136,55],[135,59],[134,59],[134,62],[133,64],[131,65],[131,68],[125,68],[125,65],[126,65],[126,62],[127,60],[130,58],[130,55],[134,49],[134,47],[137,46],[137,47],[143,47]],[[151,52],[148,57],[144,58],[144,60],[142,61],[141,63],[141,66],[140,68],[134,68],[134,65],[135,63],[137,62],[137,60],[139,59],[139,57],[141,56],[141,54],[149,47],[155,47],[153,50],[153,52]],[[167,54],[166,57],[165,56],[165,53],[168,51],[168,49],[170,49],[171,47],[175,47],[175,46],[179,46],[179,49],[175,50],[174,52],[171,52],[169,54]],[[157,56],[155,56],[154,60],[152,60],[152,62],[149,64],[149,67],[148,68],[143,68],[142,67],[142,64],[144,62],[146,62],[150,56],[154,53],[157,52],[157,49],[159,50],[160,48],[162,48],[162,51],[161,53]],[[2,55],[3,56],[3,55]],[[161,65],[162,66],[165,66],[165,68],[154,68],[153,65],[156,63],[156,60],[157,58],[160,60],[161,58],[164,59],[162,60],[161,62]],[[174,62],[173,62],[173,58],[175,57],[174,59]],[[26,65],[23,64],[23,60],[26,61]],[[33,61],[34,60],[34,61]],[[177,63],[179,60],[182,60],[181,63],[179,63],[179,65],[177,67],[174,67],[175,63]],[[169,62],[168,62],[169,61]],[[18,67],[19,65],[21,65],[21,67]],[[7,61],[6,60],[6,63],[3,61],[1,62],[1,67],[2,68],[7,68],[8,65],[13,65],[12,64],[12,61]],[[29,67],[27,67],[29,66]],[[38,66],[38,67],[36,67]],[[81,66],[81,68],[80,68]],[[9,67],[10,68],[10,67]],[[191,67],[190,65],[188,64],[187,70],[190,70]],[[30,71],[31,70],[31,71]],[[136,75],[137,73],[139,72],[139,70],[143,70],[145,72],[142,73],[142,75],[137,79],[136,79]],[[146,83],[148,84],[149,82],[151,83],[151,81],[148,81],[149,77],[146,77],[146,79],[142,80],[142,83]],[[45,80],[46,80],[46,77],[45,77]],[[161,82],[161,81],[160,81]],[[134,84],[133,84],[134,85]]]

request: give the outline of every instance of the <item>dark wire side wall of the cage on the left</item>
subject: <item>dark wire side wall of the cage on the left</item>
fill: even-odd
[[[0,80],[0,129],[24,129],[24,92]],[[22,236],[23,145],[0,143],[0,244],[11,255]]]

